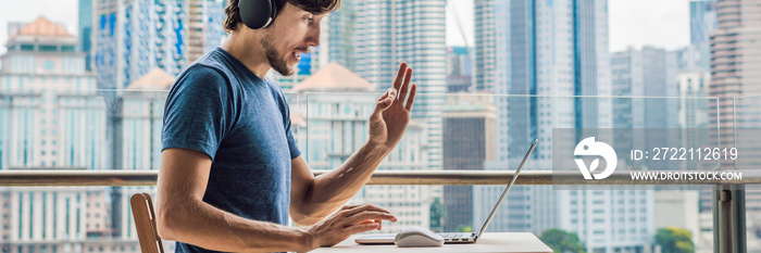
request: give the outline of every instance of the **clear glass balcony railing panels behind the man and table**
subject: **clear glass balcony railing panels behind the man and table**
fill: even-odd
[[[166,94],[0,90],[2,251],[138,252],[128,197],[154,192]],[[338,167],[366,141],[379,96],[286,93],[294,134],[316,175]],[[400,217],[384,225],[384,232],[408,226],[477,230],[538,139],[488,231],[541,236],[557,228],[578,235],[587,251],[614,245],[643,252],[653,249],[659,229],[675,227],[690,232],[697,252],[724,251],[727,243],[751,250],[761,231],[753,219],[761,214],[754,207],[761,192],[754,188],[761,184],[754,157],[761,155],[753,155],[761,143],[753,141],[759,102],[420,93],[402,141],[350,203],[373,203]],[[734,124],[727,126],[727,117]],[[622,162],[606,179],[585,179],[577,164],[556,157],[589,135],[615,140],[610,146]],[[741,151],[734,160],[633,159],[634,150],[653,147]],[[716,170],[743,176],[713,181],[632,176]],[[733,199],[736,194],[745,198]],[[737,222],[740,216],[747,226]],[[173,250],[173,243],[164,245]]]

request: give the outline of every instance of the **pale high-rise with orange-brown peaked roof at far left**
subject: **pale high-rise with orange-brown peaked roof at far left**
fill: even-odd
[[[107,166],[103,99],[93,91],[55,90],[95,89],[86,54],[76,47],[76,37],[45,17],[10,36],[0,71],[10,110],[0,130],[8,135],[1,168]]]

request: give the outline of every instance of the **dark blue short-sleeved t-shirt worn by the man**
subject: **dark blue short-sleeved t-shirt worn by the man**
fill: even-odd
[[[203,202],[249,219],[288,223],[290,161],[301,152],[283,90],[221,48],[183,71],[164,109],[164,149],[212,159]],[[211,252],[177,243],[177,252]]]

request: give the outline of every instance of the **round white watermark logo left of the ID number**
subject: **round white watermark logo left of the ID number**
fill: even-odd
[[[604,179],[613,174],[615,170],[615,165],[619,163],[619,156],[615,155],[615,151],[608,143],[601,141],[595,141],[595,137],[586,138],[576,144],[576,149],[573,151],[575,156],[588,156],[596,155],[602,156],[606,160],[606,169],[601,173],[592,174],[600,166],[600,159],[595,159],[589,164],[589,167],[584,163],[582,159],[575,159],[578,169],[582,170],[584,179]]]

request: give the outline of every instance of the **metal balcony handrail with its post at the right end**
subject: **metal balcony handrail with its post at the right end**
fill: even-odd
[[[328,172],[314,170],[313,173],[319,176]],[[743,173],[743,179],[673,180],[664,184],[657,180],[633,180],[628,172],[615,172],[602,180],[585,180],[575,172],[525,170],[521,173],[521,177],[515,180],[515,184],[713,186],[714,252],[745,253],[747,251],[745,185],[761,184],[761,170],[723,172]],[[0,187],[155,186],[158,176],[158,170],[9,169],[0,170]],[[503,170],[376,170],[367,185],[504,185],[512,176],[512,172]]]

